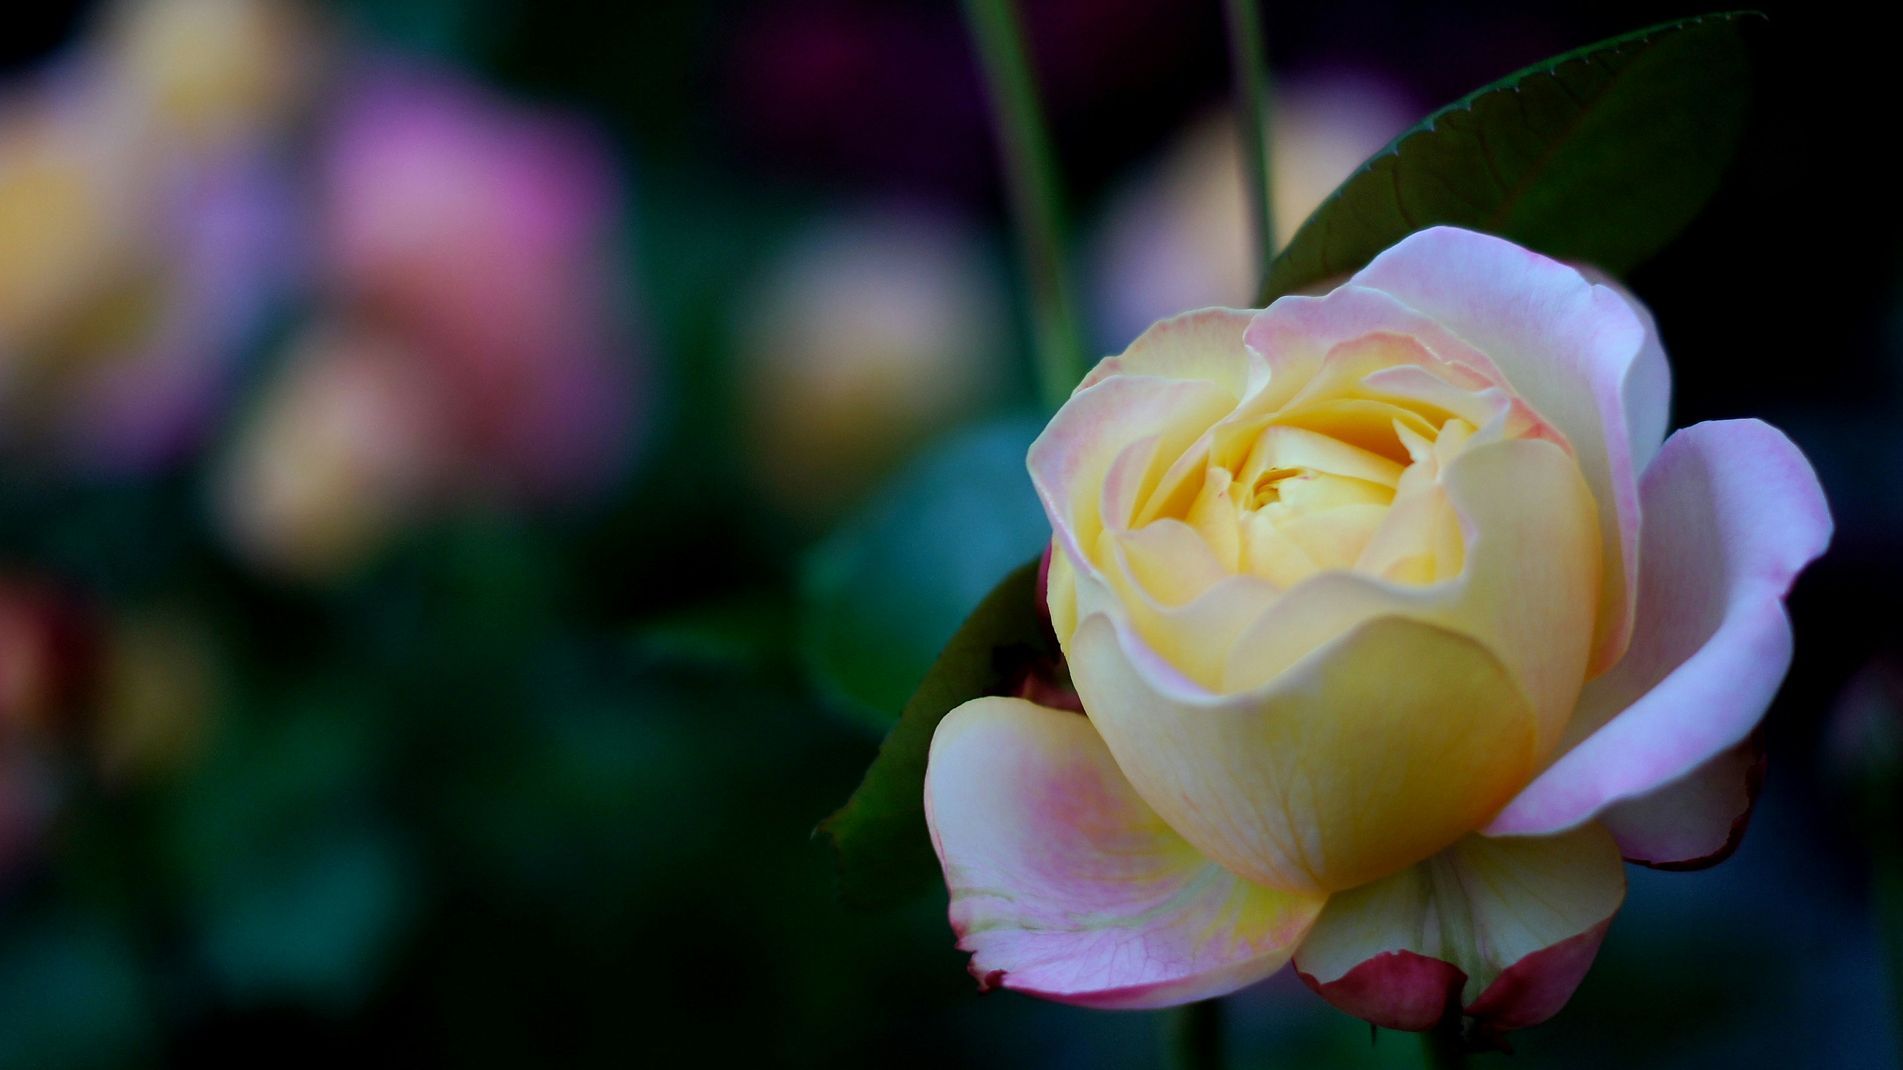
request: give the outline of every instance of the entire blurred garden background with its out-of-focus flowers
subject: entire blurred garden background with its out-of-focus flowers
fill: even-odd
[[[1024,0],[1094,352],[1246,305],[1220,6]],[[1427,110],[1690,10],[1269,2],[1286,236]],[[1895,1066],[1886,34],[1766,4],[1631,284],[1838,520],[1743,849],[1631,870],[1517,1066]],[[1148,1068],[813,826],[1049,537],[952,0],[49,0],[0,38],[0,1066]],[[1237,1066],[1416,1066],[1286,971]],[[1482,1057],[1505,1062],[1503,1057]]]

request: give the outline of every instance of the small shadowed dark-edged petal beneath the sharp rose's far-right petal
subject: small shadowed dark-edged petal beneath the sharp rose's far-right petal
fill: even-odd
[[[1627,862],[1656,870],[1703,870],[1737,851],[1764,786],[1764,733],[1677,781],[1612,803],[1599,815]]]

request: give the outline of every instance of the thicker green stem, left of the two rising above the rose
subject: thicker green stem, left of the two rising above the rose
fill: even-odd
[[[1012,0],[963,0],[1005,168],[1018,261],[1031,297],[1037,392],[1056,409],[1083,379],[1083,333],[1064,255],[1064,188]]]

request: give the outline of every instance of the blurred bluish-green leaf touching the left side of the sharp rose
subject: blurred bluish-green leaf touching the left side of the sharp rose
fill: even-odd
[[[801,645],[834,706],[889,729],[959,623],[1050,539],[1012,417],[908,465],[822,543],[803,577]]]

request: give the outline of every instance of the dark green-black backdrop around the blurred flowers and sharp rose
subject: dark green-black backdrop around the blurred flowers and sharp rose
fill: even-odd
[[[1024,10],[1083,230],[1226,93],[1220,10]],[[0,1064],[1159,1064],[1161,1015],[978,998],[942,893],[845,912],[809,838],[877,731],[801,661],[801,577],[835,518],[750,493],[735,324],[775,249],[847,204],[978,219],[1003,272],[955,4],[337,11],[363,38],[584,112],[624,154],[655,375],[641,455],[592,510],[441,520],[318,592],[232,564],[192,468],[0,476],[6,569],[91,605],[185,600],[238,680],[200,765],[137,794],[74,775],[10,864]],[[1688,13],[1347,0],[1265,17],[1279,74],[1372,69],[1425,109]],[[1629,282],[1665,335],[1675,426],[1785,428],[1817,465],[1836,541],[1791,598],[1798,653],[1743,849],[1701,874],[1631,870],[1568,1009],[1482,1064],[1897,1064],[1865,847],[1821,741],[1846,680],[1899,642],[1903,202],[1880,158],[1903,95],[1880,27],[1817,4],[1766,13],[1737,164]],[[32,69],[88,15],[15,15],[0,61]],[[1030,407],[1028,373],[1010,383],[988,411]],[[1420,1059],[1412,1038],[1370,1045],[1286,973],[1229,1007],[1237,1066]]]

